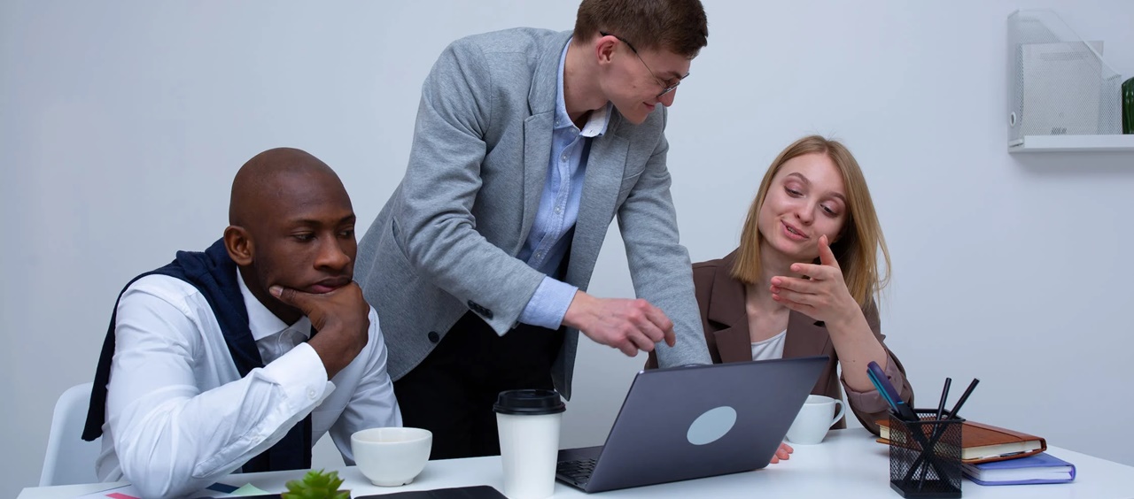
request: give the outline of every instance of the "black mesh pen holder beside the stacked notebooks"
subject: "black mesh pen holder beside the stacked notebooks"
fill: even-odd
[[[922,421],[890,416],[890,488],[906,498],[960,497],[960,427],[936,410],[915,410]]]

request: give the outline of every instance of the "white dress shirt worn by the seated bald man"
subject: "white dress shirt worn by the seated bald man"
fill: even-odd
[[[312,442],[330,431],[347,464],[354,463],[353,432],[401,425],[373,308],[366,347],[328,381],[304,343],[310,320],[289,327],[243,278],[239,284],[265,363],[244,378],[217,316],[192,284],[151,275],[122,294],[95,465],[100,480],[128,480],[146,497],[200,490],[273,446],[313,410]]]

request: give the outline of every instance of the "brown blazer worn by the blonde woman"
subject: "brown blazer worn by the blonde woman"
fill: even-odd
[[[705,343],[709,345],[709,354],[712,356],[713,363],[752,360],[748,317],[744,307],[744,284],[729,275],[735,260],[736,251],[733,251],[718,260],[693,264],[693,284],[696,287],[701,324],[704,327]],[[889,355],[886,373],[895,387],[900,387],[902,398],[907,404],[913,405],[914,390],[906,379],[905,368],[902,367],[898,358],[886,347],[886,336],[880,333],[878,308],[872,302],[863,309],[863,313],[866,316],[870,329],[874,332],[874,336]],[[784,359],[810,355],[827,355],[829,358],[827,367],[819,376],[819,382],[815,384],[811,393],[831,398],[843,398],[841,380],[837,370],[838,355],[827,327],[822,321],[792,311],[784,343]],[[650,360],[646,361],[646,369],[657,367],[657,359],[651,353]],[[862,425],[878,435],[878,424],[874,421],[886,419],[889,414],[881,396],[875,390],[856,393],[848,388],[847,402]],[[846,419],[840,420],[835,428],[846,428]]]

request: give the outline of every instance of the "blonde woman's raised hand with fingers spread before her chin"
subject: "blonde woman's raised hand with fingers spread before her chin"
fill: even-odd
[[[824,322],[848,320],[855,313],[862,313],[847,291],[843,269],[828,246],[827,235],[819,238],[819,265],[792,264],[792,272],[811,278],[772,277],[772,300]]]

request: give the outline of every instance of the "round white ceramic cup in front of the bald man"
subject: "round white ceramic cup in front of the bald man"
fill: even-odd
[[[433,447],[433,432],[421,428],[371,428],[350,436],[358,471],[375,485],[397,487],[413,482]]]

